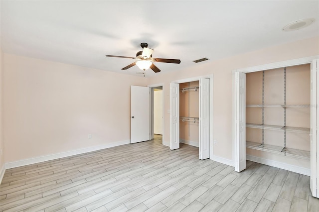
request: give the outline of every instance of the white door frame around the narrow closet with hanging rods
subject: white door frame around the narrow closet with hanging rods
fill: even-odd
[[[188,83],[188,82],[193,82],[193,81],[199,81],[200,79],[205,78],[205,79],[210,79],[210,85],[209,85],[209,108],[210,108],[210,113],[209,113],[209,158],[213,160],[213,75],[205,75],[205,76],[198,76],[198,77],[192,77],[192,78],[186,78],[186,79],[181,79],[181,80],[175,80],[171,81],[171,83]],[[200,88],[199,88],[200,89]],[[170,92],[171,95],[171,92]],[[179,99],[178,99],[179,102]],[[200,121],[200,120],[199,120]],[[172,126],[169,126],[170,129]],[[171,141],[169,141],[171,142]]]

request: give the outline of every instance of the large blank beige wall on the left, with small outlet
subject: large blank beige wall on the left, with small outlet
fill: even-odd
[[[147,85],[140,76],[10,54],[3,77],[6,163],[130,140],[130,87]]]

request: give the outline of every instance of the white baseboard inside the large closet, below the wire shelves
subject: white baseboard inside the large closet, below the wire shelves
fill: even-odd
[[[280,169],[285,169],[285,170],[288,170],[288,171],[291,171],[291,172],[296,172],[296,173],[299,173],[299,174],[310,176],[310,169],[307,169],[307,168],[304,168],[304,167],[294,166],[294,165],[291,165],[291,164],[282,163],[282,162],[269,160],[269,159],[265,159],[265,158],[260,158],[260,157],[256,157],[256,156],[252,156],[252,155],[246,155],[246,160],[250,160],[250,161],[261,163],[261,164],[265,164],[265,165],[268,165],[268,166],[273,166],[273,167],[277,167],[277,168],[280,168]]]

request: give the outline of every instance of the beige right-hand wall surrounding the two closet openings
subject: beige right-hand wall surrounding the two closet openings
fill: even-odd
[[[169,83],[175,80],[213,74],[213,154],[232,160],[232,70],[319,55],[319,37],[272,46],[217,61],[206,61],[173,73],[158,75],[149,84],[163,84],[169,94]],[[213,58],[211,58],[213,59]],[[169,109],[169,95],[164,97],[164,111]],[[163,142],[169,144],[169,113],[164,114]]]

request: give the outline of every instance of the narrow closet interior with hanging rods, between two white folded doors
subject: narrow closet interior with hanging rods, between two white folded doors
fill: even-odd
[[[199,147],[199,81],[179,84],[179,142]]]

